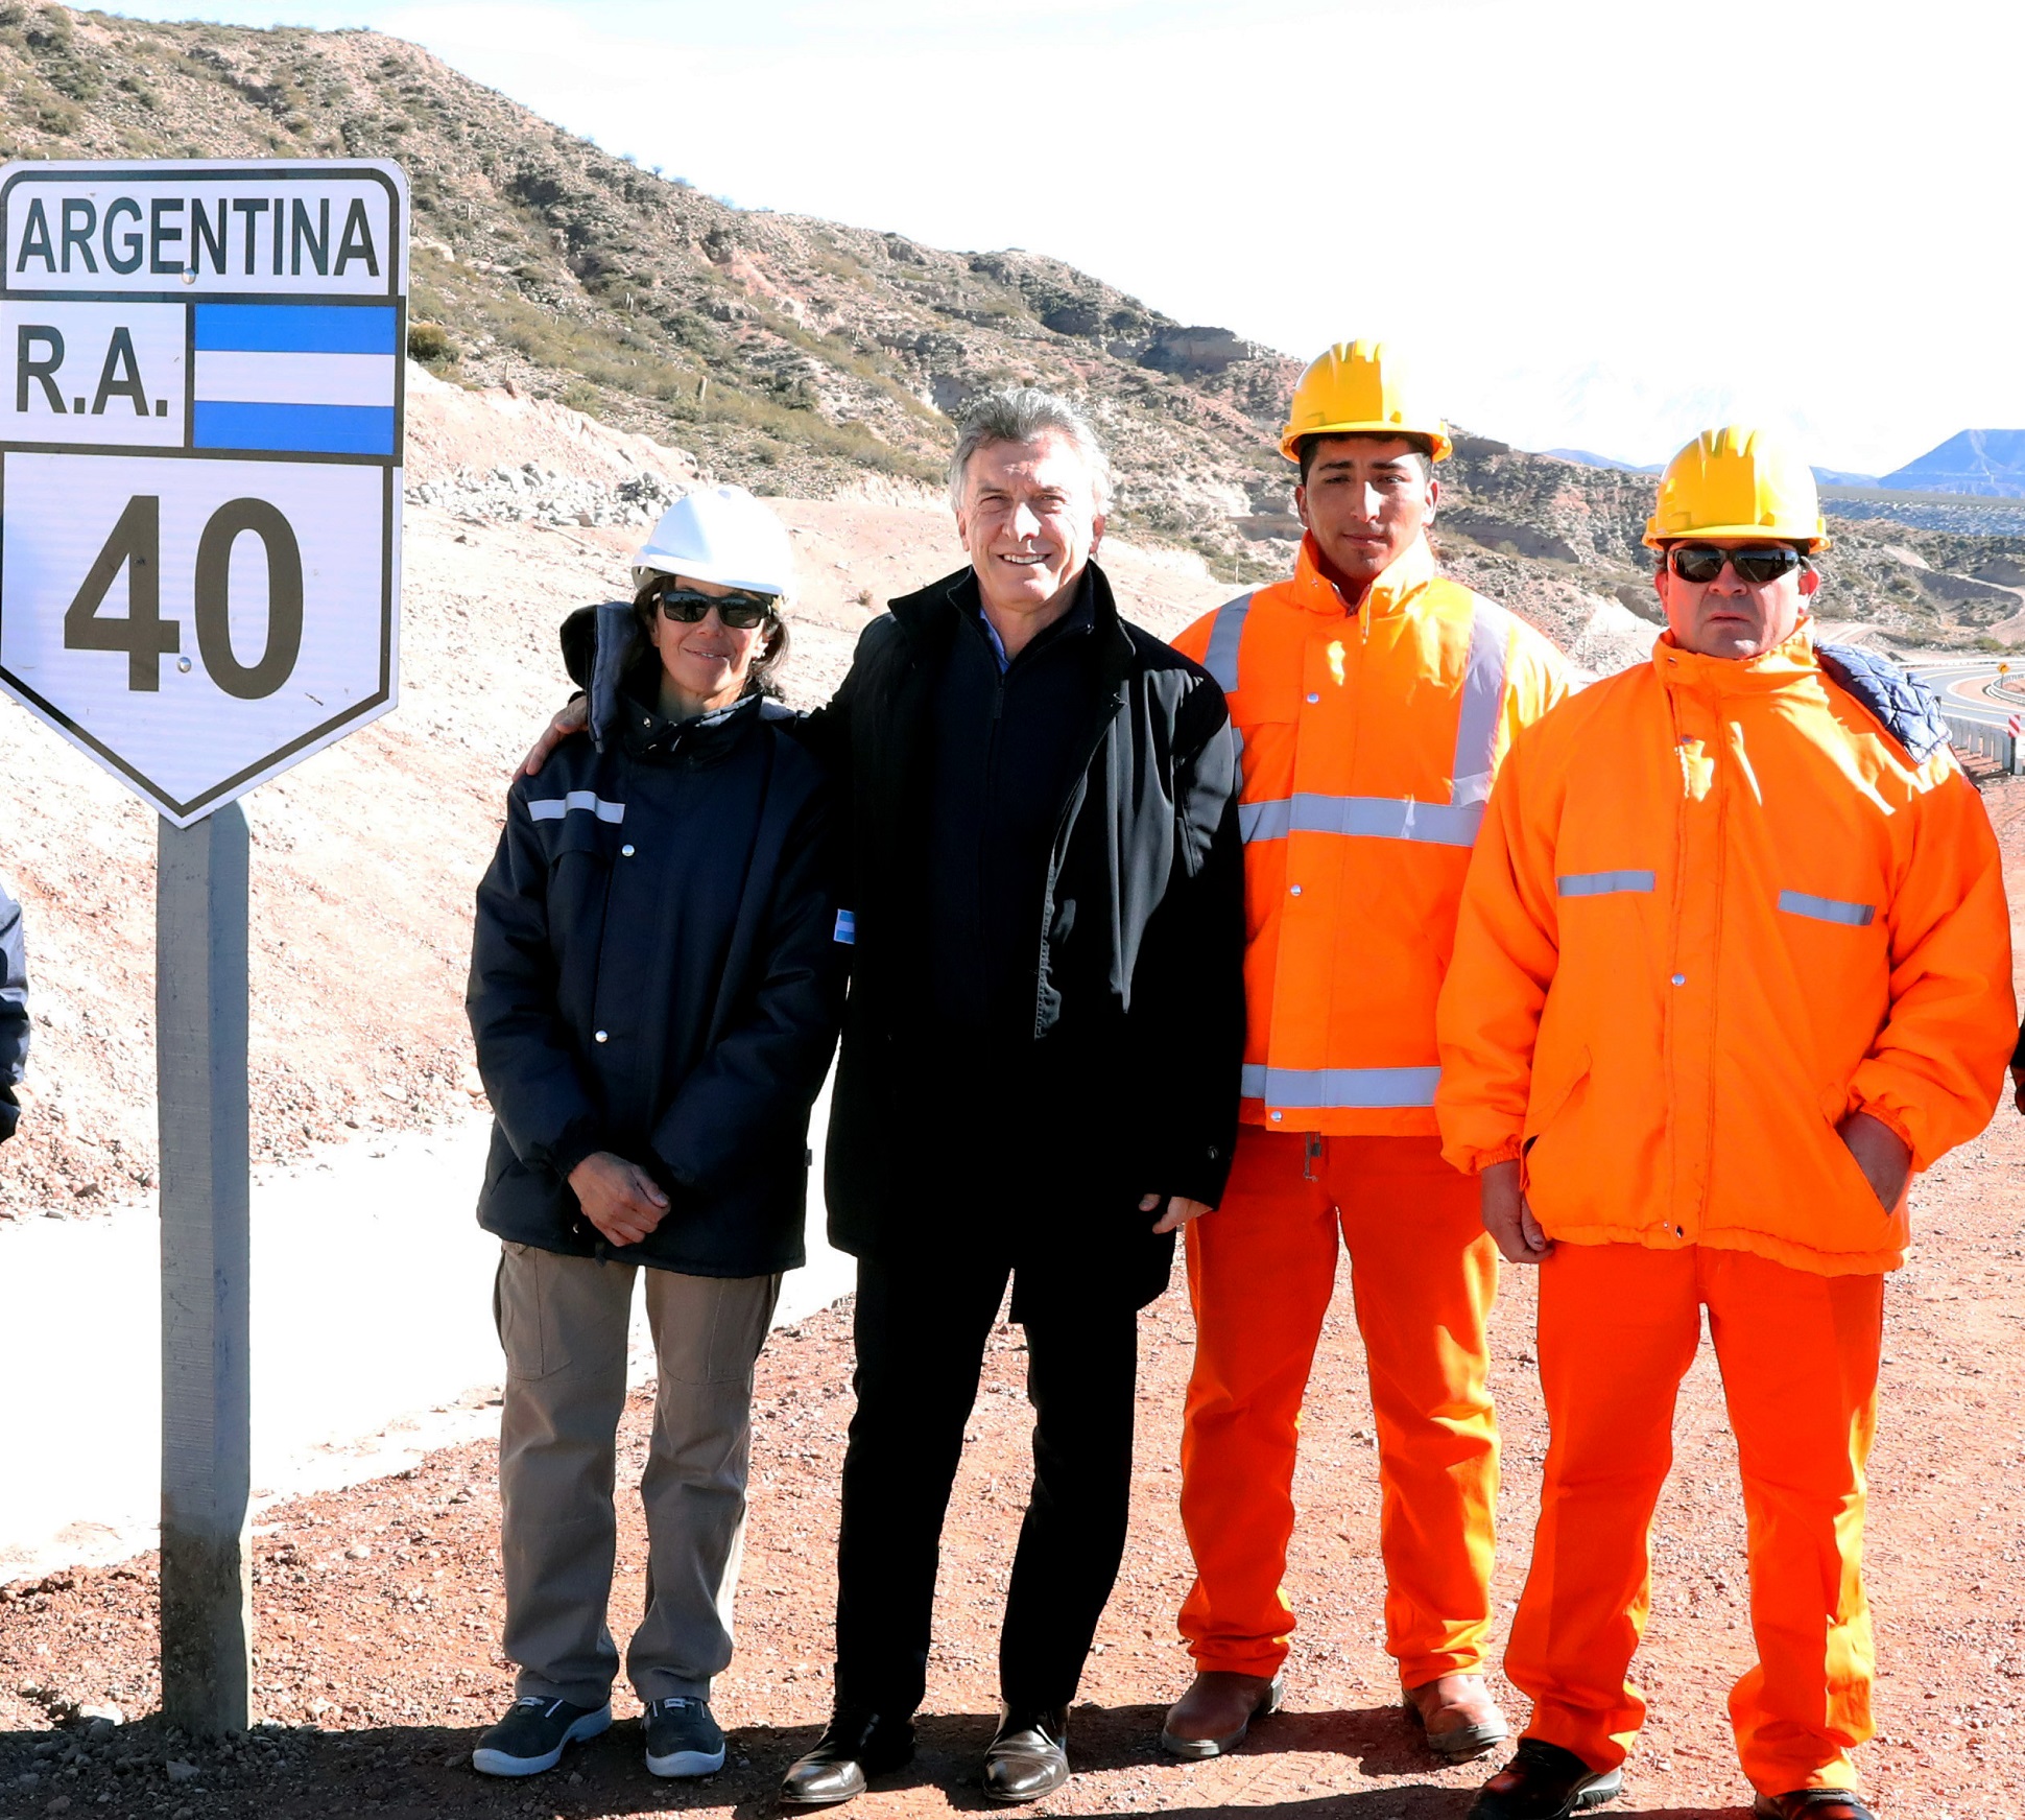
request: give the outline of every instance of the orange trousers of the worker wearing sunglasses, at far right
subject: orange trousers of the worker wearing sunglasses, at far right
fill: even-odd
[[[1758,1666],[1729,1692],[1760,1794],[1855,1788],[1871,1735],[1863,1461],[1877,1425],[1883,1277],[1820,1277],[1748,1250],[1557,1244],[1539,1273],[1551,1441],[1533,1571],[1505,1672],[1529,1737],[1624,1761],[1646,1702],[1626,1678],[1652,1605],[1652,1510],[1701,1309],[1737,1437]]]

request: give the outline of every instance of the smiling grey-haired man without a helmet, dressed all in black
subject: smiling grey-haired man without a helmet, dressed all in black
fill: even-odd
[[[808,736],[848,815],[830,1115],[859,1259],[836,1711],[784,1800],[913,1751],[942,1516],[1012,1283],[1035,1484],[986,1794],[1067,1779],[1067,1707],[1124,1552],[1138,1309],[1223,1192],[1243,1048],[1237,752],[1217,685],[1118,616],[1083,418],[988,397],[952,464],[972,565],[867,626]]]

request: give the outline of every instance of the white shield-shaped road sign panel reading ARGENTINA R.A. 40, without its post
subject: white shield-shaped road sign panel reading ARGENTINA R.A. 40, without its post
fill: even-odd
[[[176,827],[395,705],[407,186],[0,170],[0,687]]]

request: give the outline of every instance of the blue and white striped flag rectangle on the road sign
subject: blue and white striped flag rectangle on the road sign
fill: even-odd
[[[196,304],[192,448],[399,458],[391,308]]]

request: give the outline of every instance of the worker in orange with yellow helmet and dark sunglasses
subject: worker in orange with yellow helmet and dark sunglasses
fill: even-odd
[[[1804,462],[1711,430],[1646,543],[1667,632],[1513,748],[1442,991],[1444,1155],[1539,1267],[1553,1443],[1505,1668],[1533,1717],[1474,1820],[1616,1794],[1652,1508],[1701,1311],[1750,1520],[1756,1812],[1865,1820],[1863,1461],[1914,1173],[2017,1034],[1997,841],[1924,691],[1814,644]]]

